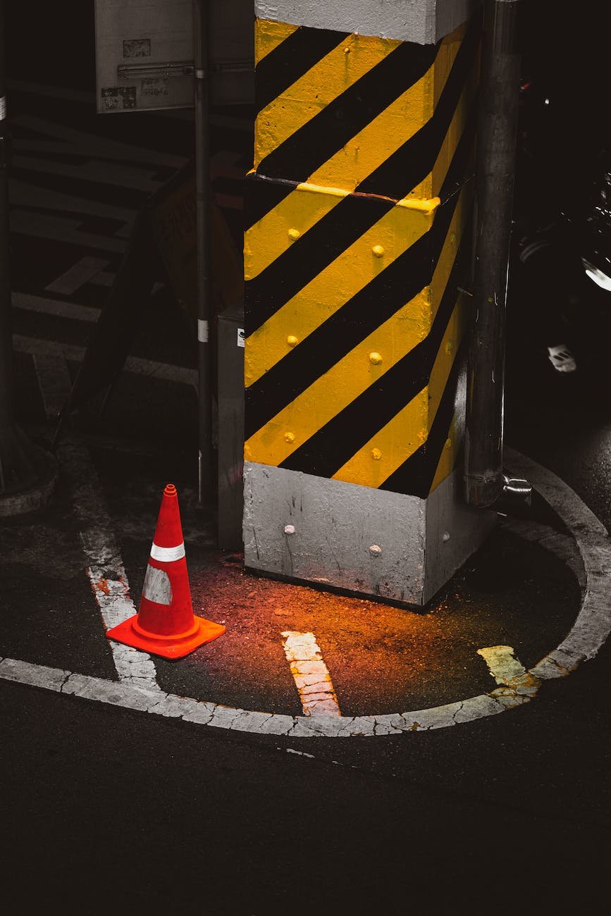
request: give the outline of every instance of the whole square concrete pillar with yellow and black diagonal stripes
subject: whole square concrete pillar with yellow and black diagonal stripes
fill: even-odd
[[[245,231],[245,564],[414,605],[491,525],[457,467],[481,17],[437,5],[257,5]]]

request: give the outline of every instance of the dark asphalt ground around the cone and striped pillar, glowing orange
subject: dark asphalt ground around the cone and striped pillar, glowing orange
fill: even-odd
[[[94,114],[91,10],[65,6],[91,41],[71,44],[49,10],[31,33],[23,10],[8,16],[16,409],[42,442],[136,210],[192,152],[189,113]],[[238,238],[250,114],[214,118],[214,190]],[[538,496],[501,520],[430,613],[407,615],[249,577],[216,549],[197,502],[192,341],[157,282],[136,362],[104,410],[62,433],[49,505],[0,524],[5,911],[598,911],[609,646],[566,676],[523,679],[573,632],[588,588],[608,617],[606,531],[587,512],[611,525],[606,365],[554,376],[512,282],[507,446],[557,474],[579,518],[565,528]],[[114,648],[103,623],[114,603],[137,605],[169,480],[194,605],[227,633],[152,666]],[[579,538],[598,557],[590,579]],[[303,725],[282,634],[308,632],[350,737]],[[511,651],[478,654],[499,645]]]

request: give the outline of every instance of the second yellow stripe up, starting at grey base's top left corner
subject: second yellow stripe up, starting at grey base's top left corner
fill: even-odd
[[[245,458],[248,461],[278,466],[429,333],[445,287],[444,280],[447,281],[456,256],[457,234],[464,224],[464,205],[469,202],[469,195],[470,190],[463,191],[456,205],[442,255],[435,268],[435,282],[316,379],[266,426],[256,431],[245,443]],[[438,290],[436,300],[431,300],[431,290]],[[376,354],[381,356],[381,361],[372,360]]]

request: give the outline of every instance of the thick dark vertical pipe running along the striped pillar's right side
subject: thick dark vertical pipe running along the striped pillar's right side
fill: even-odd
[[[484,0],[464,449],[464,494],[467,504],[475,507],[496,502],[505,484],[505,321],[518,131],[517,25],[518,0]]]

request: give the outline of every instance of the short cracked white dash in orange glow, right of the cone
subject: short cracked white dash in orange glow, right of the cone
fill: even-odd
[[[285,630],[282,645],[304,715],[341,715],[331,675],[314,634]]]

